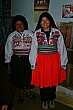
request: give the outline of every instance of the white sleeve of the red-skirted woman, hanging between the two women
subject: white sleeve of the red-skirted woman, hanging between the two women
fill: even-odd
[[[31,63],[31,69],[35,68],[36,64],[36,57],[37,57],[37,49],[38,49],[38,42],[35,34],[32,37],[32,44],[31,44],[31,50],[29,55],[29,60]]]

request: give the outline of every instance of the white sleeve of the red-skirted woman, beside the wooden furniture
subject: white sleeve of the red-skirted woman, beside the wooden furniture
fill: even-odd
[[[60,53],[61,66],[63,66],[63,68],[66,69],[68,57],[67,57],[67,50],[64,43],[63,35],[61,34],[61,32],[60,32],[60,37],[58,38],[58,51]]]

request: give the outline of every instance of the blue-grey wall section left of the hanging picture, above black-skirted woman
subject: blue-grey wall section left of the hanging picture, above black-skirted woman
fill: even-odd
[[[11,15],[24,15],[28,21],[29,29],[33,30],[35,23],[33,22],[33,0],[12,0]]]

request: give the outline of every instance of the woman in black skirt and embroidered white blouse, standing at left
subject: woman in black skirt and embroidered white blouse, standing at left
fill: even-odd
[[[34,88],[31,85],[29,61],[33,33],[28,30],[26,18],[21,15],[14,17],[12,31],[5,44],[5,62],[8,64],[8,72],[11,72],[14,87],[20,90],[18,101],[23,102],[24,90],[30,93]]]

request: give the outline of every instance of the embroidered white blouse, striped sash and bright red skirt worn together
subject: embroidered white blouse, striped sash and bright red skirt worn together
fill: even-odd
[[[51,28],[50,37],[47,35],[41,29],[36,30],[31,48],[32,69],[37,65],[36,71],[32,71],[31,84],[40,88],[58,86],[66,80],[68,58],[63,36],[55,28]]]

